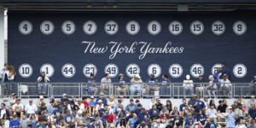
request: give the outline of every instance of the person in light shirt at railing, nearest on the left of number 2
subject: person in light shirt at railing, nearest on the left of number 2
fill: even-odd
[[[218,95],[223,96],[223,92],[225,91],[225,94],[228,95],[230,92],[230,87],[232,84],[230,84],[230,80],[228,79],[228,76],[226,74],[223,75],[223,79],[219,79],[222,73],[218,74],[218,82],[221,83],[221,87],[218,90]]]

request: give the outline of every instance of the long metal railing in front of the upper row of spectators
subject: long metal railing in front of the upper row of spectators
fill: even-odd
[[[191,92],[195,95],[211,96],[212,98],[237,96],[255,96],[256,84],[250,83],[111,83],[108,88],[102,88],[102,83],[0,83],[1,97],[11,96],[12,93],[19,94],[19,97],[55,96],[125,96],[125,97],[153,97],[163,98],[184,98],[190,97]],[[104,84],[103,84],[104,85]],[[187,86],[188,85],[188,86]],[[230,88],[227,89],[227,87]],[[252,85],[252,86],[251,86]],[[10,90],[11,89],[11,90]],[[208,92],[210,90],[210,92]],[[191,92],[190,92],[191,91]],[[43,93],[44,92],[44,93]],[[213,95],[213,93],[215,95]]]

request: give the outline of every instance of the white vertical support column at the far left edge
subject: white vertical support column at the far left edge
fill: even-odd
[[[4,9],[0,7],[0,68],[4,65]]]

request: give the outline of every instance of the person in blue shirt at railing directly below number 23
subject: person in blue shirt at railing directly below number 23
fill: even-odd
[[[85,90],[86,87],[84,87],[86,96],[88,96],[88,92],[94,91],[94,96],[96,96],[98,89],[96,88],[96,80],[94,79],[94,74],[90,73],[90,79],[87,80],[89,84],[87,84],[87,90]]]

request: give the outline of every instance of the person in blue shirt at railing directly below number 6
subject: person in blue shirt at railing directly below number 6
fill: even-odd
[[[146,83],[143,84],[146,86],[146,98],[148,99],[148,94],[150,90],[160,91],[160,87],[158,83],[158,79],[154,78],[154,73],[150,74],[150,78],[146,80]]]

